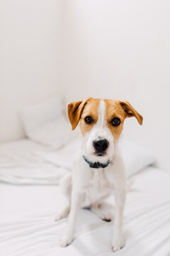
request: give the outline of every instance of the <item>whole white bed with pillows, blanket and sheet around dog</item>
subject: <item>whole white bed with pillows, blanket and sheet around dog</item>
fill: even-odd
[[[67,219],[55,221],[64,198],[60,178],[72,171],[79,137],[71,132],[61,97],[20,112],[28,139],[0,145],[0,255],[113,255],[113,223],[82,209],[76,239],[59,241]],[[63,136],[64,134],[64,136]],[[114,255],[170,255],[170,173],[154,167],[147,149],[120,140],[127,178],[134,180],[125,206],[125,247]],[[106,208],[114,213],[114,200]]]

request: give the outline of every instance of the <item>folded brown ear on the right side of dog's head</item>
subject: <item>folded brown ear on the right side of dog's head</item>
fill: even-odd
[[[120,106],[125,111],[125,117],[136,117],[137,121],[140,125],[142,125],[143,117],[140,115],[128,101],[121,101]]]

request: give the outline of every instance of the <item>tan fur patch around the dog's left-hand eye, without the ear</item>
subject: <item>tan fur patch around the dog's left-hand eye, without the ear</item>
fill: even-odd
[[[87,132],[90,132],[98,120],[99,102],[100,102],[99,99],[94,99],[94,98],[90,98],[86,102],[84,111],[82,112],[81,119],[80,119],[80,128],[81,128],[81,133],[83,135],[85,135]],[[87,117],[90,117],[92,119],[92,122],[89,124],[86,123]]]

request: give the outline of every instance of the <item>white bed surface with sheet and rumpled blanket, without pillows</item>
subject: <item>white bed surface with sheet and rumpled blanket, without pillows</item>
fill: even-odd
[[[72,144],[67,146],[68,156]],[[0,146],[0,255],[113,255],[113,223],[85,209],[72,245],[59,246],[67,225],[67,219],[55,221],[64,200],[58,184],[69,171],[63,154],[63,148],[30,139]],[[170,174],[150,164],[133,175],[125,206],[125,247],[114,255],[170,255]],[[113,198],[108,198],[106,208],[114,213]]]

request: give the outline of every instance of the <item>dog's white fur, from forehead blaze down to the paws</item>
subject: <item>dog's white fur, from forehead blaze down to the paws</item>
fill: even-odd
[[[94,155],[93,141],[97,137],[108,140],[109,147],[105,156]],[[68,204],[57,214],[56,220],[67,217],[67,229],[62,237],[60,245],[65,247],[74,239],[77,215],[79,209],[89,207],[91,210],[104,220],[111,220],[111,215],[105,213],[100,208],[100,203],[104,198],[115,195],[115,220],[113,228],[112,248],[113,251],[120,250],[124,246],[122,226],[123,209],[125,206],[126,178],[123,159],[118,150],[118,145],[114,141],[111,130],[106,125],[106,104],[103,100],[98,106],[98,121],[81,138],[81,149],[74,163],[72,174],[67,174],[62,180],[62,191],[67,196]],[[106,163],[110,160],[111,164],[105,169],[93,169],[84,161],[82,155],[89,161],[100,161]],[[72,196],[69,196],[72,193]]]

